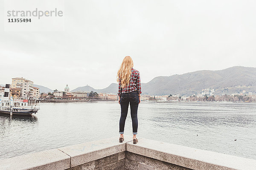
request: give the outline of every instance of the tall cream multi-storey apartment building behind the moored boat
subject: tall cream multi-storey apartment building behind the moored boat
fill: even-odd
[[[25,79],[23,77],[12,78],[12,88],[21,88],[21,99],[29,99],[33,97],[34,92],[34,82],[31,80]],[[39,93],[39,89],[38,89]]]

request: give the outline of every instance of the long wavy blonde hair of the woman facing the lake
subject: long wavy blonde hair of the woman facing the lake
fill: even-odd
[[[120,83],[121,83],[121,88],[124,88],[126,85],[129,84],[130,79],[131,79],[131,68],[134,66],[133,61],[130,56],[126,56],[122,64],[117,72],[117,82],[119,82],[120,78]]]

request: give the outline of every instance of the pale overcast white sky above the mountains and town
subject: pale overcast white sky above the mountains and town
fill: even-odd
[[[256,67],[255,0],[64,2],[65,31],[7,32],[1,16],[0,84],[25,77],[58,90],[66,84],[71,90],[106,88],[116,82],[127,55],[142,82],[236,65]]]

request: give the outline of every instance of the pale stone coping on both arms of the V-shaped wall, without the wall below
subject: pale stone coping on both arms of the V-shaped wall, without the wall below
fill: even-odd
[[[65,170],[123,151],[147,156],[193,170],[255,170],[256,160],[145,138],[133,144],[132,136],[118,137],[29,153],[0,160],[0,170]],[[131,140],[127,140],[131,139]]]

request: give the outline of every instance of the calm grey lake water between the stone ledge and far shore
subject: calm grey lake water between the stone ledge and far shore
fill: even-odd
[[[118,102],[41,103],[29,118],[0,116],[0,159],[118,136],[119,118]],[[256,103],[141,102],[138,122],[137,137],[256,159]]]

